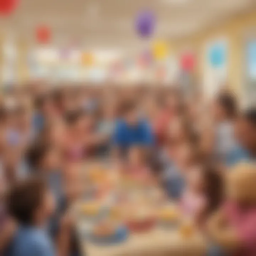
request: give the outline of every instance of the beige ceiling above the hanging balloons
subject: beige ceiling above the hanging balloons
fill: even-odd
[[[141,43],[134,28],[139,10],[154,12],[154,37],[174,39],[252,7],[255,0],[20,0],[14,14],[0,19],[0,33],[33,42],[35,28],[47,25],[54,44],[123,48]]]

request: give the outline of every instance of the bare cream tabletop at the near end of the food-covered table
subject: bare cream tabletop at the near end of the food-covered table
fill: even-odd
[[[147,233],[130,233],[120,244],[97,245],[87,239],[85,229],[88,221],[77,218],[80,247],[85,256],[203,256],[206,254],[206,239],[194,231],[185,238],[178,229],[157,225]]]

